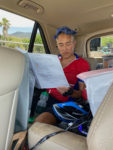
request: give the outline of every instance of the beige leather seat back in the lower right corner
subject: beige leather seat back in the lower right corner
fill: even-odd
[[[88,150],[113,150],[113,83],[92,121]]]

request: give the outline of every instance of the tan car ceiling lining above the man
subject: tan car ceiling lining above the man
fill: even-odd
[[[113,0],[24,0],[33,4],[28,8],[19,6],[22,1],[0,0],[0,7],[54,28],[67,25],[79,34],[113,25]]]

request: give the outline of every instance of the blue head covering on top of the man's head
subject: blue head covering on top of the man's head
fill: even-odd
[[[77,32],[74,30],[71,30],[70,28],[64,26],[64,27],[60,27],[57,29],[56,31],[56,35],[54,36],[54,38],[56,39],[61,33],[65,33],[68,35],[75,35]]]

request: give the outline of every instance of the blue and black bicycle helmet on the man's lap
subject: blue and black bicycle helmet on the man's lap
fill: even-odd
[[[73,101],[54,104],[53,111],[59,120],[67,123],[83,118],[89,113],[83,105],[78,105]]]

